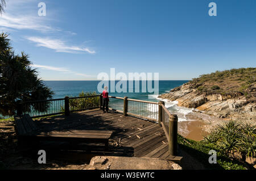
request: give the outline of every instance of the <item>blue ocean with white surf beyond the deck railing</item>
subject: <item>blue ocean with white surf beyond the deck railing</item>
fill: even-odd
[[[81,91],[84,92],[92,92],[96,91],[98,94],[101,92],[98,92],[97,86],[100,81],[44,81],[46,86],[51,88],[51,90],[54,92],[53,98],[64,98],[65,96],[79,96],[79,93]],[[115,83],[117,83],[116,81]],[[169,92],[171,89],[174,89],[175,87],[181,86],[184,83],[188,81],[159,81],[159,94],[164,94]],[[109,90],[111,89],[111,84],[109,83]],[[140,89],[139,92],[130,93],[128,92],[128,85],[127,83],[127,92],[109,92],[109,95],[112,96],[118,96],[118,97],[124,97],[127,96],[130,99],[139,99],[139,100],[148,100],[151,102],[159,102],[158,95],[152,95],[152,93],[148,92],[142,92],[142,89]],[[139,81],[139,85],[141,87],[142,81]],[[152,87],[154,88],[154,82],[152,83]],[[133,86],[133,89],[135,89],[135,83]],[[165,102],[165,105],[167,109],[171,113],[176,113],[179,117],[179,121],[186,121],[186,115],[192,111],[191,108],[184,108],[184,107],[178,107],[177,102],[170,102],[168,100],[163,100]]]

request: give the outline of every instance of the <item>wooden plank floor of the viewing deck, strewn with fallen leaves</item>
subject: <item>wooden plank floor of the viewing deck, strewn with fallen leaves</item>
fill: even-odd
[[[42,132],[69,130],[113,131],[109,150],[101,144],[89,144],[85,150],[94,155],[118,155],[171,159],[179,162],[181,157],[169,154],[168,141],[162,127],[152,121],[121,113],[102,113],[90,110],[72,113],[69,116],[57,115],[36,121]],[[56,143],[55,143],[56,144]],[[55,145],[56,146],[56,145]],[[72,149],[71,145],[67,145]],[[83,149],[84,149],[83,148]]]

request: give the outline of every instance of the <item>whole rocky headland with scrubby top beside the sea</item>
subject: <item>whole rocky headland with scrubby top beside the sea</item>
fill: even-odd
[[[159,96],[177,106],[195,108],[187,117],[209,115],[209,119],[249,121],[256,124],[256,68],[216,71],[200,75]],[[215,119],[214,119],[215,118]],[[194,119],[197,120],[197,119]],[[209,131],[209,130],[208,130]]]

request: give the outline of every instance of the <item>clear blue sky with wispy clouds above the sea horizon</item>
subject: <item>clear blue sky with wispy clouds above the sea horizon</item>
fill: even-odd
[[[192,79],[256,65],[255,0],[7,0],[0,31],[44,80],[96,80],[110,68]]]

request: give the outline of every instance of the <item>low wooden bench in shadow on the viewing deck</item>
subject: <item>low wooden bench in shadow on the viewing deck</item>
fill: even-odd
[[[112,131],[92,131],[92,130],[65,130],[42,132],[38,125],[26,114],[15,116],[15,129],[19,142],[31,140],[38,141],[70,141],[70,142],[102,142],[108,149],[109,138]],[[20,143],[21,144],[21,143]]]

